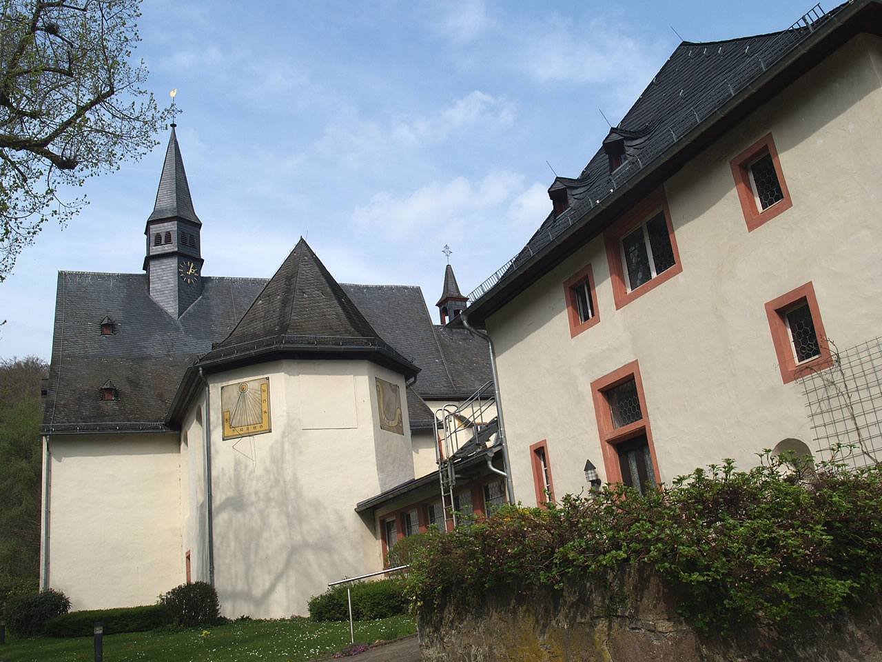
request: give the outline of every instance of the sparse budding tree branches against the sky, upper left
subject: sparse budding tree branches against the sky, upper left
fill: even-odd
[[[85,195],[65,189],[138,159],[167,113],[132,66],[140,0],[0,0],[0,281],[43,224]]]

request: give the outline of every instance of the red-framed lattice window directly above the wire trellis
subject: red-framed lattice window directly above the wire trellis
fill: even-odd
[[[811,281],[769,301],[766,317],[785,384],[833,365]]]

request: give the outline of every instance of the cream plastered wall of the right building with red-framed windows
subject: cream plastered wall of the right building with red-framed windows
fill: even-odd
[[[587,489],[587,458],[605,477],[590,384],[635,359],[662,480],[724,457],[747,468],[784,439],[813,448],[764,306],[811,281],[838,347],[879,335],[880,44],[849,41],[664,185],[682,274],[616,310],[598,237],[490,317],[519,500],[534,501],[543,439],[558,496]],[[748,232],[729,161],[768,132],[793,207]],[[571,339],[563,283],[588,263],[601,319]]]

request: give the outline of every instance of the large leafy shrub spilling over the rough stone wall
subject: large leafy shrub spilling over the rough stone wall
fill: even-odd
[[[547,510],[500,508],[432,538],[407,595],[417,608],[467,602],[501,584],[560,589],[572,576],[647,563],[686,589],[680,613],[725,632],[745,619],[794,625],[878,593],[882,467],[761,458],[749,471],[725,460],[642,495],[612,485]]]

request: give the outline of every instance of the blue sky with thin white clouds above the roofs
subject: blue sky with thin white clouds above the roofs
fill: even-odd
[[[833,4],[825,6],[831,9]],[[204,275],[273,275],[299,237],[340,282],[414,284],[435,316],[518,252],[679,39],[785,29],[804,0],[167,2],[136,56],[178,141]],[[168,141],[89,180],[0,284],[0,357],[49,359],[59,270],[140,273]]]

